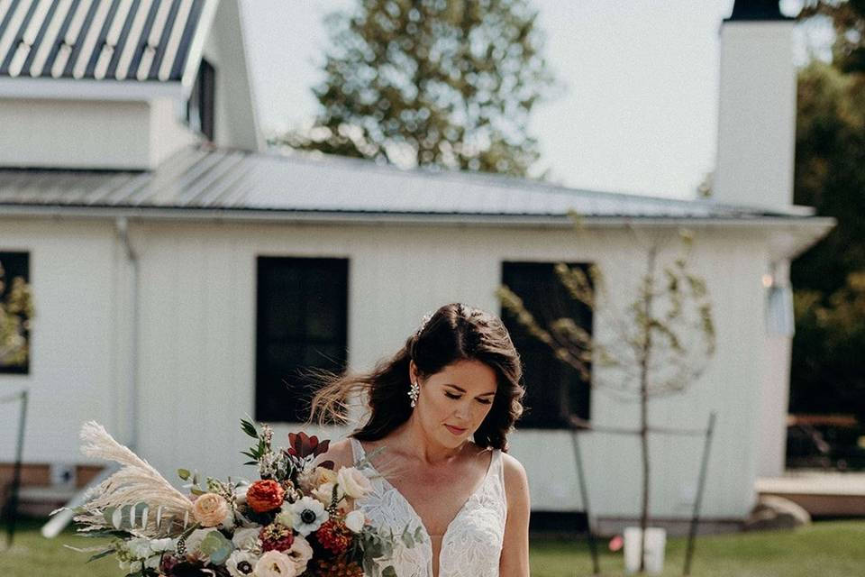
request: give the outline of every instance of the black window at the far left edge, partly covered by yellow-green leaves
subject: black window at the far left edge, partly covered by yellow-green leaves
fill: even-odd
[[[0,373],[30,372],[30,254],[0,252]]]

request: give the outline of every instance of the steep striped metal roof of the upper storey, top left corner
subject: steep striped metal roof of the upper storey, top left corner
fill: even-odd
[[[214,0],[0,0],[0,78],[180,81]]]

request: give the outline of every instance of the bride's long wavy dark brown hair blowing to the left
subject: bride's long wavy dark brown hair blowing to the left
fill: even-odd
[[[453,303],[439,308],[393,357],[369,373],[331,376],[313,398],[310,421],[346,422],[347,399],[366,395],[369,419],[351,436],[375,441],[387,436],[412,414],[408,398],[409,363],[429,377],[453,362],[479,361],[496,372],[496,396],[487,417],[475,432],[482,447],[507,450],[507,434],[523,413],[520,356],[497,316]]]

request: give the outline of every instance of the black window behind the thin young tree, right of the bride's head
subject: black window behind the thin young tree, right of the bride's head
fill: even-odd
[[[569,263],[587,271],[587,264]],[[569,297],[552,262],[504,262],[502,282],[523,299],[524,306],[546,327],[552,320],[569,316],[592,333],[592,311]],[[590,383],[578,371],[558,360],[551,348],[517,323],[507,310],[502,320],[514,340],[524,365],[525,412],[523,428],[560,428],[571,417],[588,420]],[[589,371],[591,367],[589,367]]]

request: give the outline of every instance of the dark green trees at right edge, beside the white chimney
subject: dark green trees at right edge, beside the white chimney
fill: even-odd
[[[793,263],[797,333],[790,411],[865,423],[865,74],[799,72],[795,200],[837,226]]]

